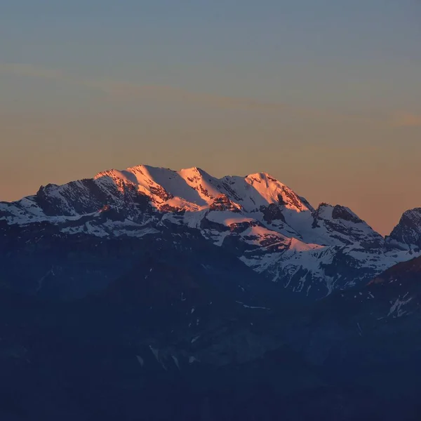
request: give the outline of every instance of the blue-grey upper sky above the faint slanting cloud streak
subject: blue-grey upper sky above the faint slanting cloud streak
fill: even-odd
[[[1,3],[5,62],[298,105],[421,112],[416,1]]]

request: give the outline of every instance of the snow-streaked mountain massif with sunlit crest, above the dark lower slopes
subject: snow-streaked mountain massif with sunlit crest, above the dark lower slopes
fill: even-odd
[[[0,223],[0,243],[11,241],[24,255],[48,239],[160,241],[177,232],[172,241],[187,244],[194,232],[280,288],[310,299],[363,284],[419,253],[385,241],[345,206],[314,209],[267,173],[218,179],[200,168],[136,166],[47,185],[34,196],[0,203]]]

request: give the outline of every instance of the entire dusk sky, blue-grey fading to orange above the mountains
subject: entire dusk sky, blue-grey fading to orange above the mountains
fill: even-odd
[[[0,0],[0,200],[140,163],[421,207],[419,0]]]

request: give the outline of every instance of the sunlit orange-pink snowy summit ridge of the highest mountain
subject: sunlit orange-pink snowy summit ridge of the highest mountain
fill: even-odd
[[[247,212],[258,211],[270,204],[295,212],[313,210],[305,199],[267,173],[246,177],[227,175],[218,179],[196,167],[173,171],[140,165],[123,171],[105,171],[95,175],[94,180],[102,182],[105,178],[112,180],[121,190],[124,185],[133,185],[138,192],[149,196],[156,208],[171,206],[200,210],[211,206],[218,196],[225,194]]]

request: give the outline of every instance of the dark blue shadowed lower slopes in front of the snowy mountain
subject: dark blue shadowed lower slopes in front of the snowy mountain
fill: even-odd
[[[274,307],[166,255],[76,302],[0,290],[1,420],[418,419],[419,277]]]

